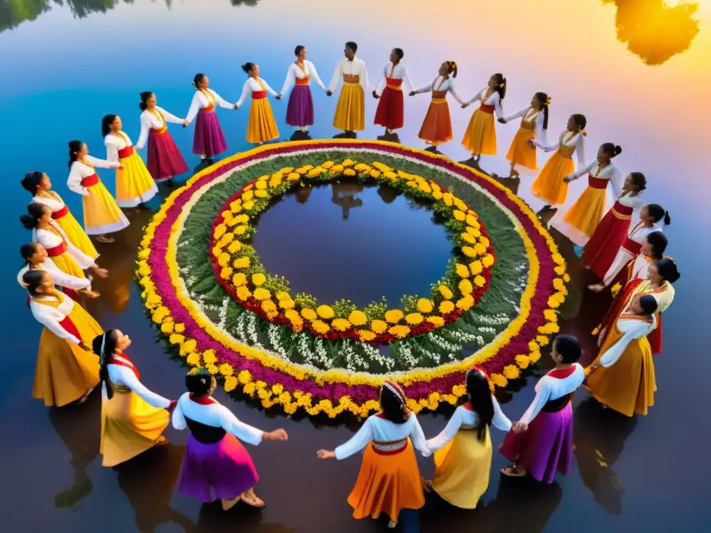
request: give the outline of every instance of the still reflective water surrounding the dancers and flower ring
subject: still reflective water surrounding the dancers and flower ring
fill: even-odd
[[[699,303],[710,294],[705,270],[711,254],[697,243],[707,240],[702,235],[702,212],[710,198],[711,167],[705,151],[711,140],[707,134],[711,2],[695,4],[695,13],[676,4],[680,3],[360,0],[345,6],[317,0],[0,0],[0,72],[4,72],[0,209],[6,217],[0,244],[7,258],[0,269],[11,286],[2,311],[8,379],[0,393],[4,425],[0,469],[4,479],[11,480],[0,504],[6,529],[311,533],[385,527],[351,518],[346,496],[358,470],[357,458],[326,463],[315,457],[317,448],[336,446],[353,428],[264,414],[223,396],[220,399],[230,402],[248,423],[289,431],[287,444],[250,449],[262,475],[259,493],[268,504],[261,512],[240,509],[223,515],[213,506],[173,493],[186,434],[170,429],[169,448],[150,451],[117,470],[102,468],[98,394],[82,407],[60,410],[46,409],[30,398],[41,328],[33,323],[14,281],[21,263],[16,250],[30,238],[17,222],[29,200],[18,181],[28,170],[46,171],[70,209],[80,212],[79,198],[64,185],[66,143],[82,139],[95,156],[104,156],[102,115],[122,115],[135,141],[139,92],[154,90],[159,105],[183,115],[193,94],[192,77],[201,71],[220,95],[234,102],[244,82],[239,65],[246,61],[260,63],[262,77],[278,91],[299,43],[309,47],[309,58],[328,83],[345,40],[359,43],[359,55],[373,81],[388,50],[399,46],[417,85],[430,82],[437,65],[452,59],[459,63],[456,81],[464,98],[481,89],[492,72],[508,78],[507,112],[525,107],[533,92],[545,90],[552,96],[551,139],[571,113],[586,114],[589,158],[602,142],[620,144],[624,151],[617,166],[623,172],[643,171],[649,200],[670,211],[673,225],[665,229],[668,254],[683,274],[677,299],[664,317],[664,353],[656,358],[659,390],[649,416],[624,419],[600,410],[580,392],[574,399],[577,461],[569,476],[545,487],[528,480],[501,480],[498,469],[506,463],[494,453],[491,484],[478,510],[456,510],[432,497],[419,516],[403,518],[405,528],[416,531],[412,528],[419,522],[423,532],[473,527],[496,532],[707,529],[702,504],[707,501],[711,470],[702,435],[711,399],[706,380],[710,364],[698,332],[707,324]],[[311,135],[330,137],[336,133],[331,127],[336,98],[315,90],[314,99],[316,125]],[[417,131],[427,100],[406,99],[403,144],[422,146]],[[284,123],[286,104],[286,99],[272,100],[284,139],[291,135]],[[366,105],[369,123],[375,100],[368,97]],[[467,155],[458,141],[471,108],[451,104],[451,112],[455,139],[442,151],[464,159]],[[230,152],[247,148],[246,110],[220,110],[220,119]],[[171,132],[188,163],[198,166],[198,158],[188,156],[192,131],[178,126]],[[360,138],[381,133],[369,125]],[[506,175],[503,154],[514,134],[515,125],[497,125],[500,155],[483,158],[485,171]],[[104,171],[101,176],[113,190],[112,173]],[[540,207],[528,194],[530,178],[506,183],[534,208]],[[582,181],[574,183],[571,199],[582,186]],[[158,200],[151,205],[156,207]],[[352,218],[357,211],[351,210]],[[112,277],[96,284],[102,298],[92,302],[90,311],[103,325],[132,335],[131,355],[147,386],[177,397],[183,392],[183,370],[153,344],[154,332],[132,283],[134,252],[150,213],[128,215],[129,229],[115,244],[100,248],[100,264],[111,270]],[[333,224],[338,222],[336,213]],[[570,258],[570,244],[565,239],[560,244]],[[607,302],[584,291],[587,279],[577,264],[571,265],[571,274],[577,290],[571,291],[566,304],[569,320],[563,329],[587,338]],[[416,283],[410,276],[405,281]],[[592,357],[587,339],[587,357]],[[504,409],[513,418],[533,397],[534,382],[529,377],[501,394]],[[445,423],[443,416],[420,418],[427,435]],[[495,446],[502,438],[493,432]],[[431,461],[422,461],[421,466],[424,475],[431,475]]]

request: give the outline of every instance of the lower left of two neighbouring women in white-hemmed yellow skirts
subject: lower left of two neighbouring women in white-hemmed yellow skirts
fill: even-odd
[[[105,161],[89,155],[87,145],[82,141],[69,143],[69,190],[82,195],[84,230],[87,235],[96,235],[98,242],[114,242],[113,233],[128,227],[129,220],[119,209],[114,197],[109,194],[99,179],[94,167],[119,168],[121,163]]]

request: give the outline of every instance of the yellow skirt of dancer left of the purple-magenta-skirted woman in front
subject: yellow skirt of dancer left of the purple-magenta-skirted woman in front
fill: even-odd
[[[147,404],[135,392],[114,389],[113,397],[104,397],[101,404],[101,464],[115,466],[148,450],[169,420],[168,411]]]

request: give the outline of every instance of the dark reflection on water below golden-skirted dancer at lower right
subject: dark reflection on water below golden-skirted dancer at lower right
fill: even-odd
[[[602,409],[592,398],[575,412],[574,453],[580,477],[597,504],[612,515],[622,514],[624,483],[611,467],[636,424],[636,416],[629,418]]]

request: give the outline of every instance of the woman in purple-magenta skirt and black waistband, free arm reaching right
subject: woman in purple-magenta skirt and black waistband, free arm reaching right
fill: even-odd
[[[237,419],[212,395],[217,381],[205,369],[186,377],[188,391],[178,399],[173,411],[173,427],[189,428],[178,485],[183,494],[202,500],[222,500],[226,511],[242,500],[252,507],[264,507],[255,495],[259,480],[255,464],[242,443],[258,446],[262,441],[286,441],[283,429],[260,431]]]

